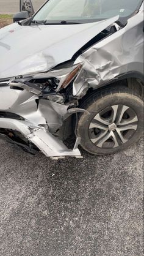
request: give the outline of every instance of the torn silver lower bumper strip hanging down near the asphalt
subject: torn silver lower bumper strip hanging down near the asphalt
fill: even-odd
[[[65,156],[81,157],[81,152],[77,148],[79,138],[77,138],[74,148],[68,149],[62,140],[50,134],[44,127],[34,126],[34,124],[27,121],[0,118],[0,127],[20,132],[27,140],[37,146],[45,156],[51,157],[52,159],[63,158]]]

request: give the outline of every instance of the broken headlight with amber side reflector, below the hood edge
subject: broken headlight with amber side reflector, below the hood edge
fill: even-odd
[[[64,65],[61,69],[59,66],[59,68],[49,70],[45,73],[15,77],[13,80],[10,80],[9,84],[10,86],[27,89],[36,94],[40,94],[43,89],[46,89],[47,92],[49,90],[59,92],[61,89],[65,89],[70,85],[71,81],[77,77],[81,69],[82,63],[71,67]]]

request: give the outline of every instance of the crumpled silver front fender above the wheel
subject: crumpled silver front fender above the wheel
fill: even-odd
[[[73,84],[73,95],[84,96],[88,88],[98,88],[132,70],[143,73],[143,11],[128,20],[123,29],[96,43],[77,62],[83,67]]]

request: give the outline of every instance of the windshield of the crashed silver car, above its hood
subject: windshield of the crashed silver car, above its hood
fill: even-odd
[[[36,13],[34,21],[77,21],[79,23],[104,20],[116,15],[129,17],[142,0],[49,0]]]

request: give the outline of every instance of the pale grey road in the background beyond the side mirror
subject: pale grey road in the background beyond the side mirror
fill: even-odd
[[[35,11],[43,4],[45,0],[32,0]],[[0,14],[14,14],[19,12],[20,0],[0,0]]]

